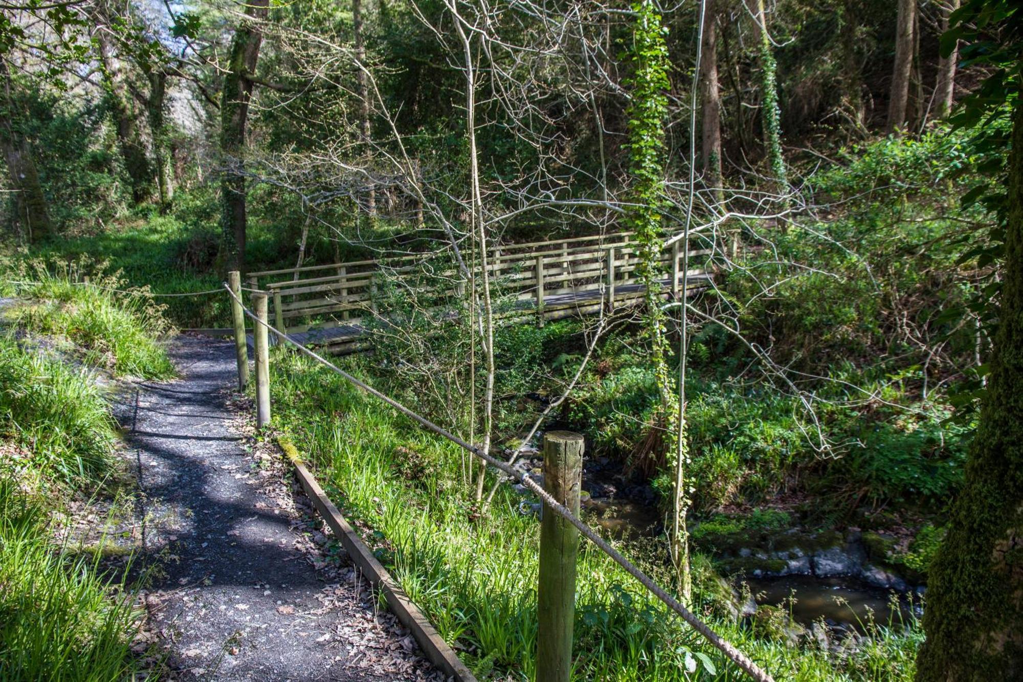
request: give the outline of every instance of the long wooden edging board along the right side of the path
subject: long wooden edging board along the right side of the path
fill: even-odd
[[[302,489],[306,492],[312,501],[316,511],[320,513],[323,520],[327,522],[335,537],[341,543],[348,556],[362,574],[369,579],[369,582],[377,587],[387,598],[388,606],[398,616],[401,624],[408,628],[409,632],[419,643],[422,652],[427,657],[448,677],[453,677],[455,682],[477,682],[472,671],[465,664],[458,659],[458,655],[448,646],[444,638],[440,636],[433,624],[424,615],[419,607],[412,603],[387,569],[376,560],[369,548],[363,544],[362,539],[352,528],[351,524],[341,515],[338,508],[330,499],[326,497],[323,488],[319,486],[316,479],[309,472],[309,469],[298,457],[298,452],[294,446],[285,446],[279,443],[281,450],[295,465],[295,475],[302,484]],[[291,443],[288,443],[290,445]],[[288,452],[291,451],[291,452]]]

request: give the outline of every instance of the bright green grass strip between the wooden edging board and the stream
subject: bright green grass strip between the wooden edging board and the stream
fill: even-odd
[[[346,361],[366,377],[365,358]],[[475,520],[462,452],[301,356],[278,352],[271,365],[277,423],[315,465],[339,507],[372,528],[366,540],[442,636],[462,647],[481,676],[531,679],[538,524],[518,513],[520,499],[502,488],[489,514]],[[409,467],[410,458],[418,464]],[[624,549],[659,582],[670,583],[660,548]],[[713,595],[701,592],[695,608],[713,613]],[[874,637],[856,653],[830,658],[708,617],[780,680],[909,680],[923,638],[916,622],[907,629],[874,625]],[[579,557],[575,652],[578,680],[745,679],[588,544]],[[683,672],[697,653],[708,656],[714,674]]]

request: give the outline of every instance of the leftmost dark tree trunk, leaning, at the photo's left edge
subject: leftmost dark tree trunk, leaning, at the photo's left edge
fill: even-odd
[[[29,140],[13,122],[13,103],[10,97],[10,73],[7,62],[0,59],[0,77],[3,78],[5,98],[0,109],[0,151],[3,152],[10,174],[17,222],[30,242],[54,235],[53,223],[46,210],[46,196],[39,183],[39,172],[32,158]]]

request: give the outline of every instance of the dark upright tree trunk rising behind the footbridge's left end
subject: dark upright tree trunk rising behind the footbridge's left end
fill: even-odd
[[[267,16],[270,0],[250,0],[246,14],[231,40],[227,73],[220,99],[220,153],[225,169],[220,182],[221,248],[220,260],[226,269],[244,270],[246,262],[246,122],[249,100],[263,34],[259,20]]]

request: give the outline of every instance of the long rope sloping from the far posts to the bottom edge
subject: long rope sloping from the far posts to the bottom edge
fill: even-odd
[[[416,422],[427,430],[432,431],[437,435],[446,438],[447,440],[450,440],[459,447],[480,458],[485,463],[489,464],[491,467],[506,474],[513,480],[518,481],[526,488],[532,491],[540,500],[543,501],[543,503],[547,506],[547,508],[549,508],[555,514],[558,514],[559,516],[567,520],[569,523],[571,523],[573,526],[575,526],[580,534],[582,534],[587,540],[593,543],[601,551],[610,556],[615,561],[615,563],[624,568],[626,572],[628,572],[630,576],[632,576],[632,578],[638,581],[640,585],[647,588],[647,590],[649,590],[650,593],[653,594],[655,597],[660,599],[666,606],[668,606],[668,608],[677,613],[683,621],[685,621],[685,623],[687,623],[691,627],[693,627],[694,630],[700,633],[708,642],[710,642],[714,647],[716,647],[719,651],[721,651],[729,660],[739,666],[739,668],[742,669],[747,675],[749,675],[751,679],[756,680],[757,682],[773,682],[773,678],[767,672],[763,671],[749,656],[747,656],[745,653],[739,650],[739,648],[737,648],[729,641],[727,641],[726,639],[718,635],[716,632],[711,630],[711,628],[706,623],[701,621],[699,617],[697,617],[695,613],[685,608],[685,606],[683,606],[681,602],[675,599],[675,597],[673,597],[667,590],[665,590],[656,582],[654,582],[652,578],[650,578],[647,573],[640,570],[634,563],[629,561],[624,555],[622,555],[618,550],[612,547],[607,541],[601,538],[601,536],[597,535],[597,532],[593,530],[593,528],[591,528],[580,518],[578,518],[575,514],[573,514],[565,505],[561,504],[553,497],[551,497],[551,495],[547,493],[539,483],[534,481],[529,476],[524,475],[522,472],[509,466],[508,464],[502,462],[501,460],[498,460],[492,457],[490,454],[483,452],[483,450],[480,446],[474,445],[468,442],[466,440],[459,438],[458,436],[451,433],[444,427],[438,426],[437,424],[433,423],[426,417],[422,417],[421,415],[413,412],[409,408],[406,408],[398,400],[395,400],[389,395],[386,395],[385,393],[382,393],[377,389],[373,388],[369,384],[366,384],[365,382],[345,372],[338,366],[325,359],[319,353],[315,352],[310,348],[307,348],[301,342],[288,336],[285,332],[282,332],[271,326],[268,322],[261,319],[259,315],[257,315],[248,307],[246,307],[244,303],[237,295],[235,295],[233,291],[231,291],[227,283],[224,283],[223,286],[224,290],[228,293],[228,295],[232,299],[234,299],[234,301],[238,304],[238,306],[240,306],[242,312],[248,317],[266,328],[268,332],[276,335],[278,339],[291,343],[300,352],[304,353],[305,355],[308,355],[317,363],[323,365],[335,374],[340,375],[349,383],[360,388],[366,393],[383,400],[384,402],[391,406],[405,417],[408,417],[412,421]]]

